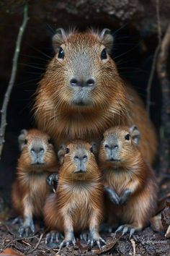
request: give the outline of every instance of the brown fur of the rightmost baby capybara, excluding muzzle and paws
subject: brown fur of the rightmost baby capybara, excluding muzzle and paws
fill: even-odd
[[[153,216],[157,204],[157,184],[153,170],[143,160],[137,145],[125,140],[129,132],[128,127],[114,127],[104,133],[114,134],[121,143],[120,162],[106,161],[104,140],[99,150],[99,167],[102,169],[104,187],[117,192],[120,197],[124,189],[133,191],[125,205],[115,205],[106,198],[106,217],[112,226],[131,224],[136,230],[143,229]]]

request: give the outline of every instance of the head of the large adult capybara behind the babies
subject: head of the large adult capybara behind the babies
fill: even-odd
[[[121,92],[120,77],[115,62],[109,56],[112,43],[109,29],[100,33],[93,30],[86,33],[56,30],[53,36],[55,56],[40,82],[40,88],[45,85],[50,101],[65,111],[87,111],[108,106],[111,95],[117,98]]]

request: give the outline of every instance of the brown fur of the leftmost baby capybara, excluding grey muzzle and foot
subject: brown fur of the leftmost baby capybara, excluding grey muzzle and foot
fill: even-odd
[[[45,198],[50,193],[46,179],[49,174],[58,170],[53,145],[48,140],[50,137],[37,129],[31,129],[25,139],[27,145],[22,148],[22,153],[17,165],[17,178],[12,189],[12,203],[20,215],[42,216]],[[33,166],[30,164],[30,147],[32,142],[38,140],[45,145],[45,164]]]

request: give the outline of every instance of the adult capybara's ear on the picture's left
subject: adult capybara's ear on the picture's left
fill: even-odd
[[[58,48],[61,46],[62,43],[65,42],[67,38],[66,31],[63,28],[58,28],[55,31],[55,35],[53,35],[52,41],[53,41],[53,48],[54,51],[58,51]]]

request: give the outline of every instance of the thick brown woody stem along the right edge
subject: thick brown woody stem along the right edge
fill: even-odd
[[[162,109],[161,109],[161,143],[160,161],[161,172],[170,173],[170,81],[167,73],[167,59],[170,47],[170,22],[161,43],[161,51],[158,56],[157,72],[161,82]]]

